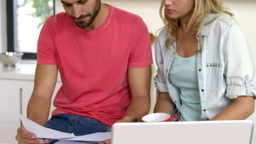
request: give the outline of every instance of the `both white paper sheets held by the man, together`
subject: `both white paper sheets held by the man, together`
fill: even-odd
[[[35,134],[38,138],[72,141],[105,141],[111,137],[111,133],[94,133],[90,135],[75,136],[73,133],[63,133],[61,131],[45,128],[23,115],[20,115],[20,119],[25,129],[28,132]]]

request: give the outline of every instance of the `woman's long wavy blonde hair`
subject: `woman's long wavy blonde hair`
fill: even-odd
[[[188,22],[188,27],[186,32],[188,34],[195,34],[199,32],[199,43],[200,43],[200,51],[202,50],[202,29],[205,25],[213,22],[214,19],[210,22],[206,22],[206,17],[209,13],[226,13],[230,16],[233,16],[232,13],[229,12],[228,9],[223,7],[223,3],[220,0],[194,0],[195,6],[193,14]],[[167,17],[166,10],[164,10],[164,16],[162,11],[164,10],[164,0],[161,2],[160,7],[160,16],[162,21],[164,21],[165,28],[167,30],[167,39],[166,39],[166,47],[168,47],[174,43],[175,38],[178,34],[179,28],[179,19],[170,19]]]

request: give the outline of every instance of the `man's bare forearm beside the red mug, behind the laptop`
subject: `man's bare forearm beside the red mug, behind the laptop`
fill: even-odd
[[[127,122],[140,122],[141,118],[148,114],[150,109],[149,97],[133,98],[130,106],[128,107],[124,119]]]

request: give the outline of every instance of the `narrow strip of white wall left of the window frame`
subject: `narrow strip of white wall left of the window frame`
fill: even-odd
[[[7,50],[6,1],[0,1],[0,53]]]

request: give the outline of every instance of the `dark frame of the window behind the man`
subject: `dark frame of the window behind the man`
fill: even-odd
[[[7,51],[18,49],[17,29],[17,0],[6,0],[7,11]],[[53,0],[53,15],[55,14],[55,0]],[[23,52],[22,59],[37,59],[36,52]]]

